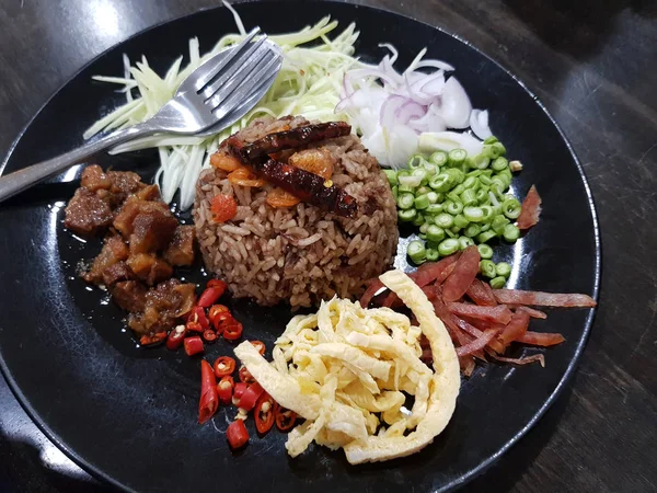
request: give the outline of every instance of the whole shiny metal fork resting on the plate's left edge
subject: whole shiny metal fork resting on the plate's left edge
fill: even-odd
[[[266,35],[255,39],[258,32],[254,28],[238,46],[220,51],[194,70],[150,119],[0,177],[0,202],[132,139],[161,133],[199,135],[232,125],[265,95],[283,64],[280,49]]]

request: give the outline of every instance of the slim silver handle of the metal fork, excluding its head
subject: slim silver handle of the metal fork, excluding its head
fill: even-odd
[[[105,149],[152,134],[154,134],[154,130],[150,125],[135,125],[124,130],[114,131],[106,137],[93,140],[56,158],[14,171],[7,176],[0,176],[0,202],[30,188],[38,182],[55,176]]]

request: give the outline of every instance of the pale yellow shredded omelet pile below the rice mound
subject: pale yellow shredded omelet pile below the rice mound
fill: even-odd
[[[460,386],[451,339],[408,276],[391,271],[381,280],[419,326],[388,308],[333,298],[316,314],[292,318],[276,341],[273,363],[249,342],[235,347],[258,383],[306,419],[289,434],[290,456],[314,440],[344,448],[351,463],[388,460],[418,451],[447,426]],[[433,369],[419,358],[420,333],[431,345]]]

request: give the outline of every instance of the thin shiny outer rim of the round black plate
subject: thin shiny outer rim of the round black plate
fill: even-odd
[[[314,0],[318,3],[330,3],[330,4],[339,4],[339,5],[350,5],[353,9],[364,9],[364,10],[369,10],[369,11],[378,11],[378,12],[384,12],[387,14],[392,14],[395,16],[400,16],[400,18],[404,18],[406,20],[416,22],[418,24],[423,24],[425,26],[428,26],[435,31],[439,31],[442,34],[450,36],[454,39],[457,39],[458,42],[466,45],[469,48],[473,49],[474,51],[476,51],[480,56],[486,58],[488,61],[493,62],[495,66],[497,66],[498,69],[500,69],[502,71],[504,71],[507,76],[509,76],[511,79],[514,79],[514,81],[516,83],[518,83],[522,90],[525,92],[527,92],[527,94],[529,94],[532,100],[535,102],[535,104],[541,108],[541,111],[545,114],[545,116],[548,117],[548,119],[550,121],[550,123],[555,127],[556,131],[558,133],[560,137],[562,138],[562,140],[564,141],[564,144],[566,145],[566,148],[568,150],[568,152],[570,153],[570,157],[573,158],[573,161],[575,162],[575,167],[577,168],[577,171],[579,173],[579,176],[581,179],[581,182],[584,184],[584,188],[585,188],[585,193],[586,193],[586,198],[587,198],[587,203],[588,203],[588,208],[591,213],[591,220],[592,220],[592,225],[593,225],[593,239],[595,239],[595,251],[596,251],[596,261],[595,261],[595,278],[593,278],[593,291],[591,294],[591,297],[596,300],[596,302],[599,301],[599,296],[600,296],[600,284],[601,284],[601,277],[602,277],[602,248],[601,248],[601,236],[600,236],[600,222],[598,219],[598,209],[596,207],[596,203],[593,200],[593,195],[590,188],[590,184],[588,181],[588,177],[584,171],[584,168],[581,165],[581,162],[579,161],[579,158],[577,157],[577,153],[575,152],[575,149],[573,148],[573,145],[570,144],[570,140],[567,138],[567,136],[565,135],[564,130],[562,129],[561,125],[556,122],[556,119],[552,116],[552,114],[548,111],[548,108],[545,107],[545,105],[543,104],[543,102],[541,101],[541,99],[539,96],[537,96],[537,94],[530,90],[527,84],[519,79],[512,71],[510,71],[509,69],[507,69],[504,65],[502,65],[502,62],[497,61],[495,58],[491,57],[489,55],[487,55],[486,53],[484,53],[483,50],[481,50],[480,48],[477,48],[475,45],[473,45],[472,43],[470,43],[469,41],[464,39],[463,37],[461,37],[458,34],[454,34],[450,31],[447,31],[445,27],[439,26],[439,25],[434,25],[430,24],[428,22],[425,21],[420,21],[412,15],[407,15],[405,13],[400,13],[396,11],[393,11],[391,9],[387,9],[383,7],[373,7],[373,5],[362,5],[362,4],[357,4],[357,3],[351,3],[350,1],[341,1],[341,0]],[[233,7],[240,7],[242,4],[257,4],[257,3],[265,3],[267,2],[267,0],[244,0],[244,1],[239,1],[239,2],[233,2]],[[276,2],[289,2],[289,3],[308,3],[304,0],[274,0],[273,3]],[[163,25],[166,25],[171,22],[175,22],[182,19],[187,19],[187,18],[192,18],[194,15],[200,15],[204,12],[209,12],[209,11],[218,11],[220,9],[226,9],[226,7],[223,4],[217,5],[217,7],[207,7],[207,8],[200,8],[194,12],[189,12],[187,14],[184,15],[178,15],[178,16],[174,16],[172,19],[168,19],[161,22],[158,22],[155,24],[152,24],[141,31],[138,31],[137,33],[131,34],[130,36],[113,44],[112,46],[107,47],[106,49],[104,49],[103,51],[101,51],[99,55],[96,55],[95,57],[93,57],[91,60],[89,60],[88,62],[85,62],[84,65],[82,65],[78,70],[76,70],[71,76],[69,76],[67,78],[67,80],[59,85],[47,99],[46,101],[39,106],[39,108],[34,113],[34,115],[27,121],[27,123],[23,126],[23,128],[21,128],[21,130],[19,131],[19,134],[16,135],[16,137],[13,139],[13,141],[11,142],[11,145],[9,146],[9,149],[7,150],[7,154],[3,158],[2,162],[0,162],[0,176],[2,176],[7,164],[9,163],[9,160],[11,159],[15,147],[18,146],[18,144],[20,142],[20,140],[23,138],[25,131],[27,131],[27,129],[32,126],[32,124],[34,123],[34,121],[41,115],[41,113],[44,111],[44,108],[50,104],[50,102],[64,90],[64,88],[66,88],[73,79],[76,79],[77,77],[80,76],[81,72],[83,72],[84,70],[87,70],[91,65],[93,65],[96,60],[99,60],[100,58],[104,57],[105,55],[107,55],[108,53],[117,49],[119,46],[125,45],[126,43],[130,42],[131,39],[141,36],[150,31],[157,30]],[[228,11],[228,9],[227,9]],[[229,14],[231,14],[230,11],[228,11]],[[584,349],[586,348],[586,345],[588,343],[588,339],[590,336],[590,332],[592,329],[592,324],[596,318],[596,313],[598,311],[598,307],[596,305],[596,307],[590,308],[589,312],[586,317],[586,321],[585,321],[585,326],[584,326],[584,332],[581,334],[581,337],[579,339],[577,346],[575,348],[575,353],[570,359],[570,362],[568,363],[563,376],[561,377],[558,383],[556,385],[556,387],[553,389],[552,393],[550,393],[550,395],[548,397],[548,399],[543,402],[543,404],[541,405],[541,408],[539,408],[539,410],[534,413],[534,415],[529,420],[529,422],[522,427],[520,428],[512,437],[510,437],[497,451],[495,451],[494,454],[489,455],[486,459],[484,459],[482,462],[480,462],[475,468],[471,469],[470,471],[468,471],[466,473],[460,475],[459,478],[450,481],[449,483],[440,486],[438,490],[436,490],[436,492],[448,492],[448,491],[453,491],[457,488],[461,488],[463,485],[465,485],[466,483],[471,482],[472,480],[474,480],[475,478],[482,475],[484,472],[486,472],[495,462],[497,462],[499,460],[499,458],[502,456],[504,456],[511,447],[514,447],[522,437],[525,437],[528,432],[535,426],[535,424],[544,416],[544,414],[546,413],[546,411],[554,404],[554,402],[556,401],[556,399],[562,394],[562,392],[565,390],[565,388],[567,387],[567,385],[570,382],[575,370],[577,369],[577,366],[579,365],[579,360],[581,359],[581,355],[584,353]],[[20,387],[18,386],[18,383],[15,382],[15,380],[13,379],[11,371],[9,369],[9,367],[7,367],[4,358],[2,357],[2,354],[0,353],[0,372],[2,374],[2,377],[4,378],[4,380],[8,383],[8,387],[10,388],[10,390],[12,391],[12,393],[14,394],[16,401],[21,404],[21,408],[23,408],[23,410],[25,411],[25,413],[30,416],[30,419],[32,420],[32,422],[36,425],[36,427],[59,449],[61,450],[69,459],[71,459],[78,467],[80,467],[82,470],[84,470],[85,472],[88,472],[91,477],[93,477],[94,479],[99,479],[102,481],[105,481],[110,484],[112,484],[115,488],[118,488],[119,490],[126,491],[126,492],[130,492],[130,493],[138,493],[137,490],[134,490],[125,484],[123,484],[122,482],[119,482],[118,480],[114,479],[113,477],[106,474],[104,471],[102,471],[100,468],[92,466],[91,463],[89,463],[84,458],[82,458],[79,454],[77,454],[72,448],[68,447],[66,445],[66,443],[58,436],[57,433],[55,433],[53,429],[50,429],[50,427],[39,417],[38,413],[32,408],[32,405],[30,404],[26,395],[23,393],[23,391],[20,389]]]

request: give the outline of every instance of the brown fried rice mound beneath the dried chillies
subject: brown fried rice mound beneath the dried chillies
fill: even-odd
[[[238,136],[252,142],[273,131],[308,125],[302,117],[260,118]],[[350,135],[304,146],[325,148],[335,159],[332,181],[358,202],[343,218],[300,202],[287,208],[266,203],[273,185],[233,185],[219,169],[205,170],[196,185],[194,222],[206,267],[228,283],[235,297],[260,305],[289,301],[308,307],[334,295],[359,295],[366,279],[392,263],[397,244],[395,202],[377,159]],[[212,220],[217,194],[238,203],[232,220]]]

